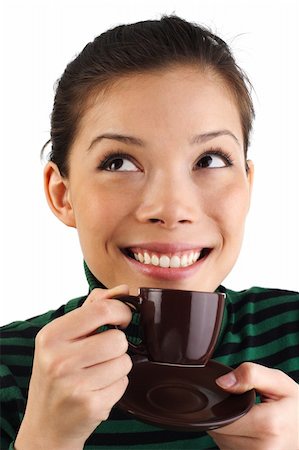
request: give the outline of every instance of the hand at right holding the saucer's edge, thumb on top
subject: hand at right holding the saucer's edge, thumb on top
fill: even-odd
[[[209,432],[221,450],[299,449],[299,387],[295,381],[280,370],[253,363],[243,363],[225,377],[217,381],[223,389],[240,394],[255,388],[262,403],[236,422]]]

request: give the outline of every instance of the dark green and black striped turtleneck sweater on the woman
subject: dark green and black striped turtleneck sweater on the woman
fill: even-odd
[[[85,265],[89,288],[103,287]],[[278,289],[253,287],[235,292],[222,286],[227,295],[215,361],[237,367],[253,361],[278,368],[299,382],[299,294]],[[80,307],[86,296],[69,301],[26,321],[1,328],[1,445],[13,450],[24,414],[32,370],[34,340],[48,322]],[[137,338],[136,316],[127,328],[129,339]],[[109,419],[92,433],[85,450],[96,449],[217,449],[206,433],[179,432],[135,420],[116,407]]]

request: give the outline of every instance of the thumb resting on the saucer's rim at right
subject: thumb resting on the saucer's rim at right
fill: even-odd
[[[218,378],[216,383],[227,391],[239,394],[256,389],[273,400],[293,396],[298,392],[295,381],[284,372],[248,362]]]

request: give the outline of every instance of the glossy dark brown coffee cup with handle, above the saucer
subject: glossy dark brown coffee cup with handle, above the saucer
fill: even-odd
[[[140,313],[142,342],[130,349],[150,361],[205,366],[219,336],[225,294],[140,288],[138,296],[117,298]]]

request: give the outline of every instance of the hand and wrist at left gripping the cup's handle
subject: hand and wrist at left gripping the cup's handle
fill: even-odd
[[[132,368],[123,331],[132,313],[112,297],[126,285],[94,289],[82,307],[47,324],[36,336],[32,376],[16,450],[77,450],[124,394]]]

